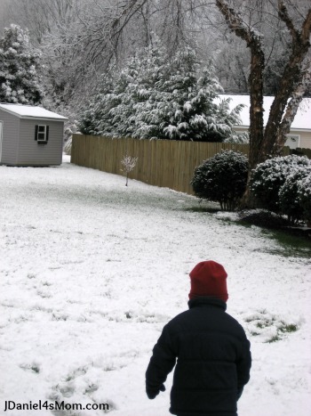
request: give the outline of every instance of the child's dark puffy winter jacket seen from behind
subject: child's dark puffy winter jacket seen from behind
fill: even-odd
[[[146,372],[148,396],[156,396],[177,358],[170,412],[235,416],[250,379],[250,342],[222,300],[196,298],[188,306],[164,326],[154,347]]]

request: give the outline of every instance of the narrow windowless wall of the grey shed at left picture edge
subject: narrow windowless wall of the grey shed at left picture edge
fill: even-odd
[[[0,110],[0,120],[3,122],[1,163],[15,165],[19,147],[20,118]]]

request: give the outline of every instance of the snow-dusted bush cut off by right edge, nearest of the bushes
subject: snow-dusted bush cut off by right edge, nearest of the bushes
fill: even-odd
[[[293,170],[293,173],[286,178],[280,188],[279,203],[282,214],[288,216],[291,223],[296,224],[305,216],[304,204],[301,204],[299,195],[305,194],[304,183],[301,184],[301,180],[306,178],[306,176],[311,177],[311,164],[310,166],[294,167]],[[311,195],[309,195],[310,197]]]

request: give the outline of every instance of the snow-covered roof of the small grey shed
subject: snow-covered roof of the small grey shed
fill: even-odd
[[[7,111],[18,118],[39,118],[65,121],[68,118],[35,105],[0,103],[0,110]]]

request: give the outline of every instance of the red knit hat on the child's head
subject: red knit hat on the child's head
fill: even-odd
[[[212,260],[195,265],[190,272],[191,290],[189,299],[212,296],[227,302],[227,273],[222,265]]]

